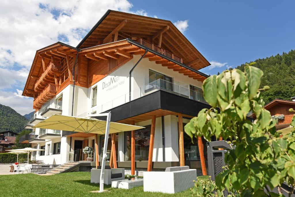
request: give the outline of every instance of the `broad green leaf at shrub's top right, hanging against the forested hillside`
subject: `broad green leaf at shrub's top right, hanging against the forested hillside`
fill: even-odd
[[[263,76],[263,71],[254,66],[245,66],[245,72],[248,78],[249,99],[255,97],[260,86],[260,78]]]

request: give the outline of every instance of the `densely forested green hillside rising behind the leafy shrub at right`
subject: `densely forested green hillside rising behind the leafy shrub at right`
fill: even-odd
[[[277,54],[268,58],[255,60],[253,66],[263,70],[261,88],[268,85],[270,89],[262,93],[266,103],[275,98],[291,100],[295,96],[295,51]],[[244,71],[244,64],[237,69]]]

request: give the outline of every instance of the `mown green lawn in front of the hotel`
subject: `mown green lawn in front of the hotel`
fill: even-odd
[[[208,176],[201,178],[208,179]],[[99,184],[90,183],[90,172],[68,172],[50,176],[35,174],[1,175],[1,196],[191,196],[186,190],[173,195],[143,192],[143,186],[129,190],[112,188],[104,193],[90,193],[99,190]]]

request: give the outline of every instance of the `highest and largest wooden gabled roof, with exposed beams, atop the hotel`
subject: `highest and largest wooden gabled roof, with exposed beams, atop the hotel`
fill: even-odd
[[[113,10],[108,10],[104,14],[77,48],[83,49],[103,44],[114,30],[119,30],[123,36],[129,35],[131,39],[147,38],[154,43],[159,43],[159,34],[162,33],[161,47],[183,58],[183,64],[196,70],[210,65],[171,21]]]

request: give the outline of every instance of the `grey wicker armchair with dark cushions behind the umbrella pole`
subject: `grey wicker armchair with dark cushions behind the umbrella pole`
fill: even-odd
[[[100,182],[100,172],[101,166],[98,169],[91,169],[90,182],[99,183]],[[114,180],[124,180],[125,179],[125,169],[124,168],[111,168],[109,165],[105,166],[104,170],[104,184],[111,185]]]

